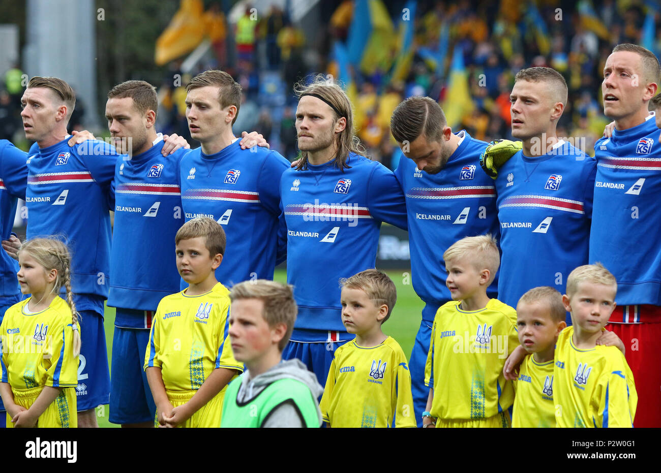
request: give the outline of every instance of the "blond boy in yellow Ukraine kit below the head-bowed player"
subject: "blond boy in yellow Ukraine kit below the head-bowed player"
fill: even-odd
[[[509,427],[512,382],[502,369],[518,346],[516,312],[489,299],[500,266],[496,240],[469,236],[443,254],[453,301],[436,312],[425,367],[423,427]]]

